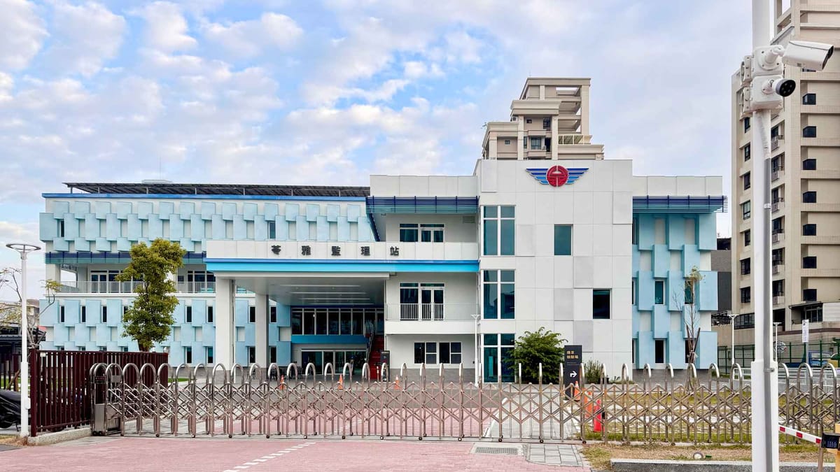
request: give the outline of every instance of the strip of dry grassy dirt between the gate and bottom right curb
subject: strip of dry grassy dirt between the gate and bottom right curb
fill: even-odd
[[[696,446],[667,446],[659,444],[645,444],[643,446],[627,446],[618,444],[588,444],[583,448],[583,454],[594,469],[610,470],[610,459],[666,459],[691,460],[695,452],[700,451],[709,460],[750,460],[751,451],[748,445],[719,446],[703,444]],[[780,460],[782,462],[816,462],[817,448],[811,444],[780,444]],[[834,462],[834,455],[828,451],[823,456],[826,462]]]

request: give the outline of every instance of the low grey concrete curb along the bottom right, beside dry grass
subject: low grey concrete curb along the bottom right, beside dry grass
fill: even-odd
[[[752,472],[753,464],[741,460],[612,459],[614,472]],[[816,472],[816,463],[783,462],[780,472]]]

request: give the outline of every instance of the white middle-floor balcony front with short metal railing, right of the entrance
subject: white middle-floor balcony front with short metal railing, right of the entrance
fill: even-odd
[[[470,334],[475,303],[387,303],[385,332],[390,334]]]

